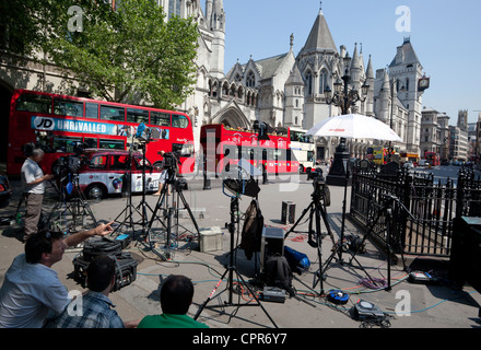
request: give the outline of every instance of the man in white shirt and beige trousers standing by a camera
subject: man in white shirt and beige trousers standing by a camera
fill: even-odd
[[[43,159],[44,151],[35,149],[22,165],[21,176],[26,203],[25,238],[37,232],[44,201],[45,182],[54,178],[54,175],[44,175],[42,167],[38,165]]]

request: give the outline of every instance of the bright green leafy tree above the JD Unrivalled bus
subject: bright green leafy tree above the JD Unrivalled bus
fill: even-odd
[[[173,109],[196,82],[198,28],[151,0],[38,1],[24,24],[38,51],[95,97]],[[30,11],[32,12],[32,11]],[[35,46],[36,45],[36,46]]]

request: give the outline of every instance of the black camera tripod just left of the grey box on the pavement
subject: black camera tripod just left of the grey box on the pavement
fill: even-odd
[[[174,243],[172,242],[173,236],[173,215],[175,215],[176,219],[176,228],[178,229],[178,200],[180,199],[184,208],[187,209],[187,212],[189,213],[190,220],[193,223],[193,226],[197,232],[198,243],[200,244],[200,230],[197,224],[196,218],[193,217],[192,211],[190,210],[190,206],[187,202],[180,182],[177,179],[175,175],[175,171],[172,168],[167,168],[167,176],[165,179],[165,184],[162,187],[161,195],[159,196],[157,203],[155,205],[155,208],[152,213],[151,220],[146,223],[145,230],[144,230],[144,237],[145,241],[149,242],[149,244],[153,245],[153,238],[152,238],[152,225],[156,219],[160,220],[160,222],[163,224],[163,226],[166,230],[166,242],[165,242],[165,257],[168,259],[171,258],[171,250],[174,246]],[[172,190],[172,203],[168,203],[168,192]],[[177,195],[177,200],[175,201],[175,195]],[[165,205],[166,208],[163,208]],[[164,218],[160,218],[157,215],[159,210],[162,210],[164,212]],[[163,222],[162,219],[166,219],[166,223]],[[176,240],[178,240],[178,235],[176,234]]]

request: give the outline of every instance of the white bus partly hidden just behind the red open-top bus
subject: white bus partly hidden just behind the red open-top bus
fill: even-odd
[[[298,161],[300,173],[310,173],[316,160],[316,144],[314,137],[307,136],[305,130],[290,128],[291,130],[291,150]]]

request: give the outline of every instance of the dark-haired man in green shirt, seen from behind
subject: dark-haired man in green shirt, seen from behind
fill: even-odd
[[[209,328],[187,315],[193,298],[193,284],[185,276],[169,276],[161,289],[161,315],[142,318],[138,328]]]

